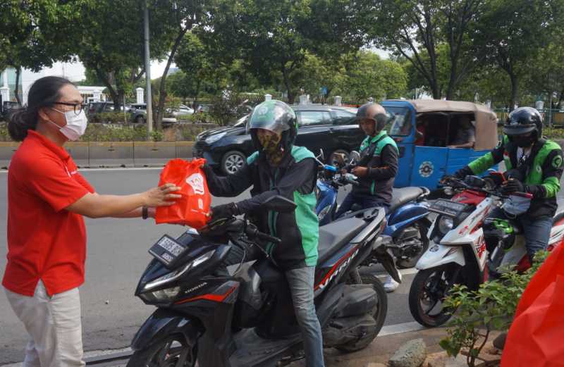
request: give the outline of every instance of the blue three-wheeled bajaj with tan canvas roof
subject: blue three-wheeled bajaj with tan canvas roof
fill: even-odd
[[[398,99],[381,105],[394,116],[386,130],[400,153],[395,187],[436,190],[443,175],[452,175],[498,144],[496,114],[482,104]],[[472,123],[473,147],[455,147],[460,143],[464,120]]]

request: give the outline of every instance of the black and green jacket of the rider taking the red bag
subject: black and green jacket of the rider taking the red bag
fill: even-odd
[[[315,213],[314,188],[317,163],[314,154],[304,147],[292,147],[278,167],[271,167],[266,156],[255,152],[247,165],[225,178],[209,175],[210,192],[233,197],[251,189],[251,198],[237,203],[241,213],[250,214],[260,231],[282,240],[269,243],[266,251],[283,270],[317,265],[319,221]],[[282,195],[296,204],[291,213],[266,211],[261,204],[269,197]]]

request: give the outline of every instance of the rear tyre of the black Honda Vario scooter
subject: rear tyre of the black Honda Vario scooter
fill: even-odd
[[[355,269],[358,271],[358,268]],[[368,347],[372,340],[376,338],[376,335],[384,326],[384,321],[386,321],[386,313],[388,313],[388,294],[386,294],[386,290],[384,290],[384,285],[382,282],[376,277],[367,278],[364,275],[359,275],[356,273],[354,276],[350,278],[350,280],[355,279],[356,284],[372,284],[374,287],[374,291],[376,292],[376,299],[378,300],[376,306],[372,310],[372,317],[376,321],[376,326],[372,328],[366,335],[361,337],[359,340],[353,340],[345,344],[341,344],[335,349],[340,350],[341,352],[356,352],[360,349],[364,349]],[[359,282],[358,280],[361,281]],[[350,281],[349,281],[350,282]]]

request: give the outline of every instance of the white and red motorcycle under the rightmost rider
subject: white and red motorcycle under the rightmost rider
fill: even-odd
[[[450,200],[438,199],[429,208],[438,216],[429,228],[429,249],[417,262],[419,272],[409,294],[413,318],[431,327],[450,318],[452,310],[443,307],[443,299],[453,285],[464,284],[476,290],[489,276],[498,277],[499,269],[530,267],[525,237],[517,221],[486,218],[510,197],[499,192],[493,180],[476,176],[465,180],[450,178],[447,183],[446,193],[454,196]],[[514,193],[511,197],[524,201],[532,198],[526,193]],[[563,238],[561,211],[553,219],[548,250],[558,246]]]

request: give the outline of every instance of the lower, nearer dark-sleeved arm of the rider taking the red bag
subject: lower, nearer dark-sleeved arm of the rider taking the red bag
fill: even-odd
[[[308,192],[312,192],[315,185],[317,163],[314,158],[305,158],[294,163],[281,178],[278,185],[269,191],[262,192],[250,199],[239,201],[237,207],[241,214],[250,213],[258,209],[261,204],[275,195],[281,195],[293,201],[293,193],[309,184]]]

